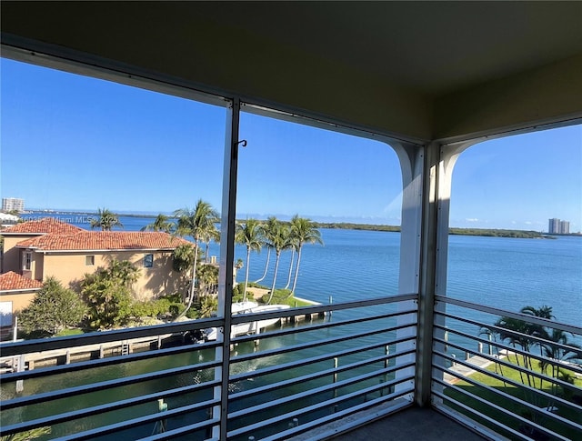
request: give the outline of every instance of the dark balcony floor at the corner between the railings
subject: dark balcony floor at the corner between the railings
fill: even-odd
[[[482,436],[458,424],[437,411],[410,407],[391,416],[361,426],[344,435],[335,436],[334,441],[441,441],[462,439],[483,441]]]

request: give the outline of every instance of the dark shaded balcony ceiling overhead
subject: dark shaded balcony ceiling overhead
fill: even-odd
[[[3,42],[429,140],[582,115],[582,2],[2,2]]]

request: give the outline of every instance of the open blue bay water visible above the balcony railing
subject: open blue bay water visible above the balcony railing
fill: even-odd
[[[41,215],[28,215],[38,217]],[[55,215],[89,228],[86,216]],[[120,217],[125,231],[138,231],[153,221]],[[324,246],[304,246],[296,296],[334,303],[397,294],[400,234],[322,229]],[[209,254],[217,256],[211,244]],[[249,280],[263,275],[267,250],[251,255]],[[286,286],[291,253],[281,256],[276,287]],[[447,296],[518,311],[523,306],[553,307],[560,322],[582,325],[582,237],[513,239],[449,236]],[[245,262],[246,248],[236,246]],[[261,282],[271,286],[275,253]],[[295,269],[293,270],[295,274]],[[237,280],[244,281],[245,270]]]

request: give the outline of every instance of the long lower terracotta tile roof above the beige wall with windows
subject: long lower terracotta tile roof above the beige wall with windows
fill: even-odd
[[[39,251],[87,251],[168,249],[191,242],[161,232],[85,231],[73,235],[45,235],[18,242],[21,248],[36,248]]]

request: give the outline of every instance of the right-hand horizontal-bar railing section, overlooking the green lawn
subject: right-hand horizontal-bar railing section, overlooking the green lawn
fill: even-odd
[[[581,327],[446,297],[437,302],[434,406],[510,439],[581,438]]]

